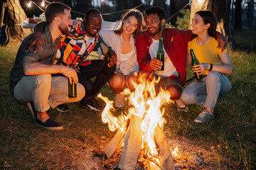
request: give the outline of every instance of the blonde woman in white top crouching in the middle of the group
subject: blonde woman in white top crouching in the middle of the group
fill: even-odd
[[[125,87],[134,91],[132,81],[137,83],[137,54],[134,38],[142,29],[144,18],[138,10],[132,9],[124,14],[122,25],[117,30],[100,30],[100,36],[112,47],[117,54],[117,70],[110,78],[110,87],[117,93],[114,106],[124,106],[124,95],[121,92]]]

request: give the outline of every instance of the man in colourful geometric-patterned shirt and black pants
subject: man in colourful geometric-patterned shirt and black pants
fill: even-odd
[[[80,106],[90,108],[94,111],[102,111],[102,106],[95,100],[95,96],[102,86],[112,77],[116,69],[117,57],[112,51],[109,74],[102,72],[102,54],[107,53],[107,45],[99,35],[102,25],[102,16],[96,8],[90,8],[85,13],[82,24],[72,27],[70,34],[60,40],[58,52],[53,64],[74,65],[78,72],[78,81],[85,87],[85,97],[80,101]],[[43,23],[39,23],[35,30],[35,35],[29,42],[31,46],[39,43],[41,46],[41,36]],[[34,40],[36,39],[36,40]],[[36,45],[37,47],[37,45]],[[99,56],[90,57],[90,52],[95,51]],[[92,83],[90,79],[96,77]],[[64,110],[65,111],[65,110]]]

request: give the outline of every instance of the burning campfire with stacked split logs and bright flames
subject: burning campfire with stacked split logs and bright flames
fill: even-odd
[[[124,90],[131,103],[128,113],[122,112],[114,116],[113,101],[102,96],[106,106],[102,111],[103,123],[116,135],[105,147],[108,159],[113,157],[122,148],[122,154],[113,168],[122,170],[134,169],[137,162],[145,169],[174,169],[171,149],[164,135],[164,105],[173,102],[169,93],[160,89],[156,94],[155,84],[158,80],[144,81],[134,84],[135,91]],[[174,154],[174,153],[173,153]]]

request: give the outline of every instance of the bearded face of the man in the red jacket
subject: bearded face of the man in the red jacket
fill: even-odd
[[[146,30],[149,31],[149,34],[152,35],[158,35],[161,33],[161,30],[164,28],[165,20],[161,20],[157,13],[151,13],[146,16],[145,19],[146,22]]]

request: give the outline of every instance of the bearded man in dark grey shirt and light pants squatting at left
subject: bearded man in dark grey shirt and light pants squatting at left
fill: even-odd
[[[54,2],[46,7],[45,13],[47,24],[42,33],[44,46],[37,52],[26,51],[24,45],[30,35],[23,40],[11,69],[9,88],[18,101],[28,102],[35,119],[34,125],[48,130],[61,130],[63,126],[49,118],[46,111],[63,103],[80,101],[85,96],[85,89],[78,84],[75,69],[52,64],[60,35],[68,35],[68,28],[72,26],[70,7]],[[75,99],[68,98],[68,79],[70,82],[73,79],[77,84]]]

